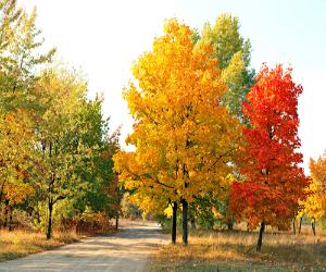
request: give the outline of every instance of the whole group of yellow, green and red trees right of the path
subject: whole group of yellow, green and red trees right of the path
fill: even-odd
[[[133,64],[139,87],[130,81],[124,88],[135,120],[126,144],[136,151],[120,150],[114,169],[141,209],[172,217],[173,244],[178,210],[184,246],[189,219],[212,227],[218,218],[229,228],[235,221],[259,226],[258,251],[265,226],[289,230],[300,213],[312,212],[310,198],[325,215],[325,169],[316,177],[312,160],[311,178],[299,165],[302,86],[281,64],[263,63],[255,74],[239,27],[230,14],[201,33],[166,20],[152,51]],[[317,194],[312,181],[323,187]]]

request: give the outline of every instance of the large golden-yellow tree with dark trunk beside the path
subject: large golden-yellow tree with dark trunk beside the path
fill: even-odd
[[[137,188],[142,209],[181,203],[187,245],[188,205],[197,196],[222,194],[231,182],[242,125],[221,106],[227,87],[217,60],[210,59],[213,48],[193,50],[191,30],[176,18],[165,23],[164,33],[134,62],[139,89],[130,81],[123,95],[136,121],[126,144],[136,151],[120,151],[114,162],[126,188]]]

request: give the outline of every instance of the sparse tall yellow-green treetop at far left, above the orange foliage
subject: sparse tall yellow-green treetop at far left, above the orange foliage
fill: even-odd
[[[16,1],[4,0],[0,3],[0,66],[1,66],[1,108],[4,114],[8,111],[27,109],[28,114],[40,110],[38,91],[34,88],[37,82],[35,67],[48,63],[55,53],[51,49],[45,54],[36,53],[43,39],[36,41],[41,30],[35,26],[36,8],[28,15],[23,8],[16,7]]]

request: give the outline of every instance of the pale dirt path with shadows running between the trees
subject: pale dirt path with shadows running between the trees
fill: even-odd
[[[154,248],[170,243],[160,226],[128,225],[113,236],[84,238],[55,250],[1,262],[0,271],[141,272]]]

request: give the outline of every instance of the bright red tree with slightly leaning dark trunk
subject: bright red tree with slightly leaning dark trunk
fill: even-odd
[[[298,136],[298,97],[302,86],[291,78],[291,69],[268,70],[264,64],[258,84],[247,96],[243,113],[251,128],[244,128],[247,144],[237,164],[243,182],[235,182],[230,194],[230,214],[247,219],[249,227],[261,224],[258,251],[265,225],[290,227],[290,218],[301,209],[310,180],[304,176]]]

